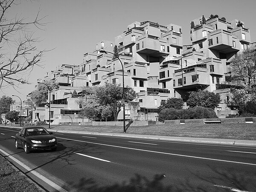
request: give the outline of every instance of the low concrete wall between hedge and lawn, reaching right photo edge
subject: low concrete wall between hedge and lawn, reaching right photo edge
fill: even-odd
[[[246,121],[247,120],[247,121]],[[256,123],[256,117],[239,117],[239,118],[221,118],[221,119],[178,119],[178,120],[165,120],[164,124],[204,124],[205,121],[221,121],[221,123],[246,123],[251,122]]]

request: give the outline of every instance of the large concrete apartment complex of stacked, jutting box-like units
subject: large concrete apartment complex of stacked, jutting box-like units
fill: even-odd
[[[77,117],[79,105],[74,101],[85,97],[82,86],[122,85],[119,59],[124,67],[125,87],[132,87],[138,93],[134,102],[139,105],[125,108],[127,120],[156,120],[160,102],[171,97],[186,101],[189,91],[201,89],[227,94],[228,90],[218,89],[218,84],[229,81],[230,61],[236,53],[249,47],[250,31],[237,27],[238,20],[227,22],[224,18],[214,18],[205,24],[201,20],[201,17],[193,20],[191,45],[183,46],[181,26],[134,22],[114,42],[99,41],[93,52],[84,54],[79,66],[62,65],[48,73],[45,79],[60,85],[51,90],[52,123],[61,122],[64,119],[61,114],[69,111],[76,111],[73,119],[81,121]],[[115,45],[119,59],[100,52],[102,49],[113,52]],[[72,94],[74,90],[77,94]],[[222,102],[218,110],[224,108]],[[121,111],[118,119],[123,119],[122,114]]]

